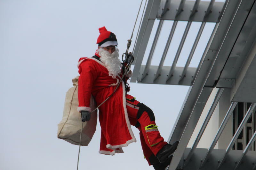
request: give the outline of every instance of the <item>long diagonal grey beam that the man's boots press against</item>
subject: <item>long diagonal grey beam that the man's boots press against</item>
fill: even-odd
[[[200,68],[198,71],[198,74],[196,75],[196,78],[192,87],[188,91],[188,95],[184,100],[184,104],[182,105],[180,114],[178,115],[178,119],[175,122],[174,128],[172,129],[171,135],[169,137],[170,140],[168,140],[169,143],[173,143],[176,140],[180,140],[180,143],[177,147],[176,152],[173,155],[173,158],[168,170],[175,170],[177,165],[179,164],[180,159],[182,157],[182,153],[184,152],[188,144],[188,141],[194,131],[194,128],[196,127],[198,119],[203,111],[204,107],[202,107],[202,105],[203,106],[205,105],[206,101],[210,96],[212,88],[210,92],[207,92],[205,91],[206,87],[204,87],[205,83],[207,82],[207,78],[212,71],[215,72],[215,71],[221,70],[221,69],[215,70],[216,69],[215,65],[220,64],[219,62],[216,62],[216,61],[219,60],[218,59],[219,57],[223,57],[218,55],[219,50],[229,50],[220,46],[224,42],[225,43],[227,41],[229,42],[229,40],[220,39],[218,36],[219,34],[221,34],[223,35],[223,37],[227,37],[227,34],[229,33],[230,27],[233,23],[233,15],[238,14],[236,13],[236,11],[240,7],[238,5],[239,3],[240,1],[238,0],[229,1],[229,3],[227,4],[228,7],[224,11],[223,17],[222,17],[222,18],[226,18],[226,20],[220,20],[221,27],[217,28],[217,30],[214,29],[212,33],[212,36],[214,38],[211,36],[209,43],[207,44],[204,56],[202,57],[203,62],[202,63],[200,62],[200,65],[198,66],[198,68]],[[218,38],[216,38],[215,35]],[[210,47],[216,43],[219,44],[218,48],[213,48],[214,50],[212,50]],[[212,70],[213,68],[214,70]],[[200,100],[201,102],[199,103],[198,101],[201,98],[204,98],[204,100],[203,101]]]

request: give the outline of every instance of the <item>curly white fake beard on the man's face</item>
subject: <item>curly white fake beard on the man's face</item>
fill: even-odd
[[[116,76],[121,73],[120,67],[122,66],[121,61],[118,58],[119,50],[116,49],[115,52],[110,54],[103,48],[99,48],[98,52],[100,55],[100,61],[104,63],[108,69],[108,75],[112,76],[112,78],[116,78]]]

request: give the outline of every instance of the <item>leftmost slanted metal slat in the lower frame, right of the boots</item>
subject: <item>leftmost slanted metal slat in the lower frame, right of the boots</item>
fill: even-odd
[[[205,117],[204,123],[203,123],[201,129],[199,130],[199,133],[198,133],[198,135],[196,137],[196,140],[195,140],[193,146],[191,147],[191,150],[188,153],[188,157],[186,158],[186,162],[185,162],[184,166],[188,165],[188,162],[189,162],[191,156],[193,155],[193,153],[194,153],[194,151],[196,149],[196,146],[198,145],[201,137],[204,134],[204,130],[206,129],[206,126],[207,126],[208,122],[210,121],[210,119],[212,117],[212,114],[213,114],[213,112],[214,112],[214,110],[215,110],[215,108],[216,108],[216,106],[217,106],[217,104],[218,104],[218,102],[220,100],[220,97],[221,97],[223,91],[224,91],[224,88],[220,88],[218,90],[218,92],[217,92],[217,94],[216,94],[216,96],[214,98],[214,101],[212,103],[212,106],[211,106],[207,116]]]

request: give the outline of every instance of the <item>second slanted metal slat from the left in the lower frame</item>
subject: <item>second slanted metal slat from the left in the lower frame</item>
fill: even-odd
[[[223,119],[223,121],[220,125],[220,128],[218,129],[218,131],[217,131],[217,133],[216,133],[216,135],[215,135],[215,137],[212,141],[212,144],[211,144],[210,148],[208,149],[208,151],[207,151],[207,153],[206,153],[206,155],[205,155],[205,157],[204,157],[204,159],[203,159],[203,161],[200,165],[200,168],[202,168],[204,166],[205,162],[208,160],[209,155],[211,154],[213,148],[215,147],[217,141],[219,140],[220,135],[221,135],[222,131],[224,130],[225,126],[227,125],[230,116],[233,114],[233,110],[235,109],[236,105],[237,105],[237,102],[232,102],[231,103],[231,105],[228,109],[228,112],[225,115],[225,117],[224,117],[224,119]]]

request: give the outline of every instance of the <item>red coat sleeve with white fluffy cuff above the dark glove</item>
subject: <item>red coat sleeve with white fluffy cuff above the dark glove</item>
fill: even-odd
[[[95,61],[86,60],[79,65],[80,77],[78,79],[78,111],[90,109],[90,99],[94,81],[98,76]]]

